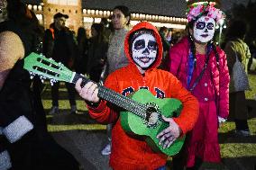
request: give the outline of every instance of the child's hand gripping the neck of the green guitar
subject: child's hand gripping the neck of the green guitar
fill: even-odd
[[[76,83],[76,90],[78,94],[89,103],[99,103],[98,88],[93,82],[88,82],[84,87],[81,87],[82,78],[78,79]]]

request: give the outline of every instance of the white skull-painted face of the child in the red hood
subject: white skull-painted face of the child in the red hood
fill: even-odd
[[[142,69],[151,67],[157,58],[156,39],[148,33],[142,34],[133,41],[133,60]]]

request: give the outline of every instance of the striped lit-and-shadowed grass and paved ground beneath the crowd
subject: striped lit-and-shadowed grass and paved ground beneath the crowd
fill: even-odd
[[[50,107],[49,90],[46,90],[42,96],[46,112],[49,112]],[[78,159],[84,170],[110,170],[108,167],[109,157],[100,154],[106,143],[105,126],[97,124],[96,121],[88,117],[85,108],[82,108],[84,103],[81,100],[78,101],[79,114],[69,114],[67,96],[62,96],[63,93],[60,94],[60,113],[53,116],[47,115],[48,127],[52,136],[62,147],[69,150]],[[256,127],[256,101],[250,100],[248,104],[252,108],[253,126]],[[251,131],[253,135],[246,139],[237,138],[232,132],[220,133],[221,147],[224,146],[227,152],[239,153],[241,146],[244,146],[242,148],[245,148],[246,151],[248,150],[248,153],[245,156],[236,154],[235,157],[223,157],[222,165],[203,165],[201,169],[256,170],[256,128],[253,128],[253,130],[255,130]],[[233,148],[233,144],[237,143],[240,144],[240,148]]]

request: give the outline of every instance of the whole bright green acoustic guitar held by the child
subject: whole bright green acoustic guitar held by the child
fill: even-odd
[[[82,85],[86,85],[87,77],[70,71],[61,63],[55,62],[51,58],[32,53],[24,59],[24,68],[32,76],[39,75],[41,79],[50,79],[50,84],[57,81],[64,81],[75,84],[78,78],[82,78]],[[165,117],[178,117],[182,109],[182,104],[173,98],[158,99],[150,91],[141,89],[128,97],[118,94],[103,85],[98,85],[98,96],[118,107],[124,109],[120,113],[123,130],[146,137],[147,143],[155,151],[173,156],[182,148],[185,136],[176,139],[169,148],[162,148],[159,139],[156,138],[161,130],[166,129],[169,123],[163,121],[161,115]]]

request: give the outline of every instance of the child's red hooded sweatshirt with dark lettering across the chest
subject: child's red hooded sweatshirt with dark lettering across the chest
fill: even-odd
[[[129,37],[133,31],[149,29],[154,32],[159,51],[157,60],[141,74],[129,52]],[[147,88],[156,97],[177,98],[183,109],[178,118],[174,118],[183,134],[191,130],[197,121],[198,103],[197,99],[187,92],[178,79],[167,71],[157,69],[162,56],[162,43],[157,29],[149,22],[140,22],[128,32],[124,42],[125,55],[130,63],[127,67],[122,67],[110,74],[105,81],[105,86],[115,92],[127,95],[140,88]],[[165,166],[167,156],[154,152],[143,138],[135,138],[131,134],[125,133],[119,119],[119,112],[111,103],[102,100],[94,108],[87,106],[89,114],[93,119],[101,123],[114,123],[112,130],[112,152],[110,156],[110,166],[114,170],[154,170],[160,166]]]

